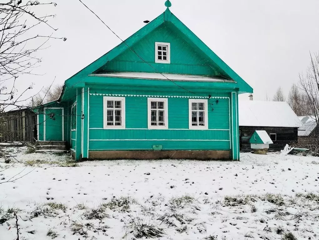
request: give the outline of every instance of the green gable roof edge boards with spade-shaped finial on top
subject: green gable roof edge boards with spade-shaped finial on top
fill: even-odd
[[[166,4],[170,6],[170,4]],[[224,61],[222,61],[210,48],[204,44],[187,26],[185,26],[167,7],[166,11],[159,15],[156,19],[149,22],[147,25],[138,30],[135,34],[131,35],[129,38],[124,40],[122,43],[117,45],[114,49],[110,50],[108,53],[104,54],[93,63],[86,66],[84,69],[70,77],[65,81],[65,88],[63,89],[63,94],[59,100],[63,100],[64,92],[68,90],[70,86],[77,86],[82,79],[84,79],[89,74],[98,70],[107,62],[113,60],[115,57],[119,56],[125,50],[132,48],[132,46],[140,41],[147,34],[151,33],[154,29],[161,26],[164,22],[168,22],[175,26],[190,42],[196,45],[203,54],[205,54],[209,59],[211,59],[216,66],[219,67],[219,71],[223,72],[226,77],[232,79],[236,82],[234,88],[239,89],[239,93],[252,93],[253,89],[249,86],[237,73],[235,73]]]

